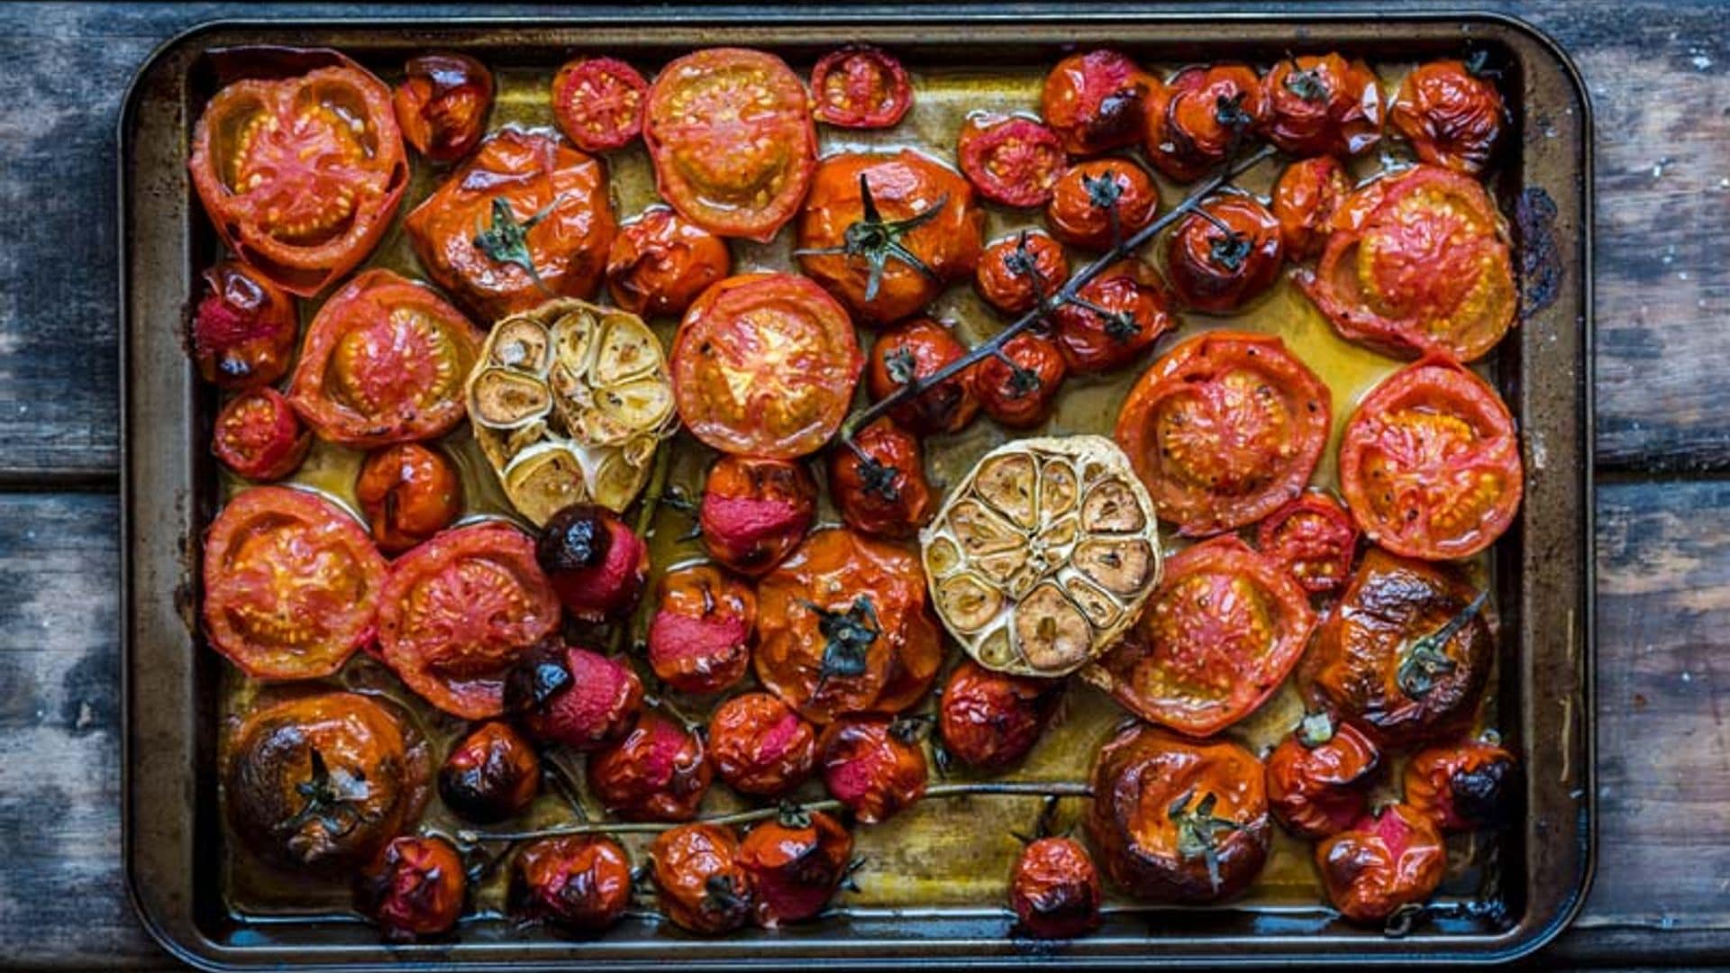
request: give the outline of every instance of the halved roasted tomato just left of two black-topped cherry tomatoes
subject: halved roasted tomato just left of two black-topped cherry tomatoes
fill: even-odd
[[[465,720],[505,708],[505,675],[559,628],[559,599],[514,526],[446,530],[403,554],[379,594],[384,661],[410,689]]]

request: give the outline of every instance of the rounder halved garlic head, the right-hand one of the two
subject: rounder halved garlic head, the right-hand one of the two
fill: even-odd
[[[1154,502],[1104,436],[991,450],[919,547],[943,625],[979,665],[1017,675],[1081,668],[1159,585]]]

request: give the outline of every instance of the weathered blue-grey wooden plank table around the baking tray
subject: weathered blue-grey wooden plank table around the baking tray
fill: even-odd
[[[1495,7],[1597,111],[1599,866],[1545,956],[1730,963],[1730,7]],[[145,55],[225,14],[0,9],[3,963],[168,964],[119,860],[114,130]]]

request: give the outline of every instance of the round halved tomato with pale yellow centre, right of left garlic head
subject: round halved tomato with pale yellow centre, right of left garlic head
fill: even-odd
[[[792,274],[714,284],[673,338],[678,416],[706,445],[798,459],[836,435],[865,357],[829,291]]]

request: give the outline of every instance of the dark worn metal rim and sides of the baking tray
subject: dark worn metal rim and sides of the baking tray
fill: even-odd
[[[1386,64],[1474,47],[1503,66],[1514,119],[1491,189],[1507,213],[1521,215],[1522,255],[1548,258],[1526,268],[1528,294],[1538,289],[1538,275],[1560,270],[1560,277],[1543,287],[1552,303],[1510,332],[1490,365],[1521,424],[1528,467],[1519,521],[1490,566],[1500,615],[1500,687],[1490,722],[1524,757],[1528,812],[1522,828],[1488,854],[1467,848],[1479,893],[1455,897],[1432,921],[1398,938],[1339,921],[1313,893],[1284,900],[1253,890],[1208,909],[1116,905],[1099,933],[1055,944],[1010,938],[1009,918],[996,907],[1000,890],[844,905],[817,925],[720,940],[635,916],[586,942],[479,919],[465,923],[452,944],[386,947],[370,926],[336,909],[237,911],[225,895],[215,784],[228,675],[195,625],[201,537],[223,488],[206,450],[216,398],[197,383],[182,325],[195,275],[215,255],[185,170],[190,125],[215,87],[209,54],[260,43],[336,47],[389,76],[407,55],[429,47],[465,50],[493,68],[550,73],[580,50],[657,64],[695,47],[744,45],[775,50],[804,69],[818,54],[858,40],[893,48],[915,76],[960,71],[974,85],[990,85],[993,73],[1043,73],[1062,52],[1107,43],[1147,64],[1268,62],[1287,52],[1336,48]],[[535,21],[230,21],[194,28],[149,59],[128,92],[119,145],[125,854],[138,914],[175,956],[204,968],[353,970],[441,961],[583,970],[813,961],[1010,966],[1031,959],[1064,966],[1488,963],[1538,949],[1579,907],[1593,840],[1592,123],[1578,73],[1533,28],[1490,14],[1173,16],[1002,3],[931,12],[711,7],[649,16],[595,9]],[[952,812],[962,819],[986,814],[983,803]],[[941,857],[952,836],[936,833],[927,852]],[[981,878],[988,888],[1002,881]]]

